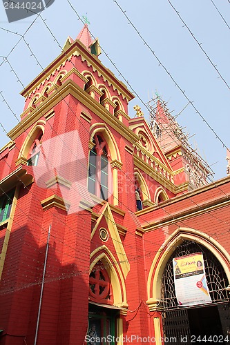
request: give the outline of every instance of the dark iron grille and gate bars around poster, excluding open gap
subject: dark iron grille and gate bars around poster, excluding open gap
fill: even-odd
[[[224,337],[229,335],[230,339],[229,296],[227,290],[225,290],[228,285],[227,276],[220,262],[218,262],[218,259],[216,259],[207,248],[197,242],[184,241],[176,248],[169,259],[162,277],[162,304],[164,307],[162,318],[164,337],[168,339],[176,338],[177,342],[174,342],[174,344],[191,344],[191,332],[189,326],[189,308],[179,308],[178,301],[175,297],[173,257],[180,257],[200,251],[204,257],[207,285],[212,300],[211,306],[218,306],[222,333]],[[186,339],[186,342],[184,342],[183,339]],[[226,344],[230,344],[230,341],[226,342]]]

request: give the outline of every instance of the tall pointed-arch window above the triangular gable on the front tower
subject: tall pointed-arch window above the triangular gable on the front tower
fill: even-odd
[[[95,146],[90,150],[88,190],[97,197],[108,199],[108,148],[101,135],[95,135]]]

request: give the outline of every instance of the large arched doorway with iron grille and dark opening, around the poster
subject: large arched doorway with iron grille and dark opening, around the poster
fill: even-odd
[[[178,306],[173,279],[173,258],[202,252],[211,304]],[[186,240],[175,249],[162,276],[163,329],[176,344],[230,344],[230,311],[227,276],[210,250]]]

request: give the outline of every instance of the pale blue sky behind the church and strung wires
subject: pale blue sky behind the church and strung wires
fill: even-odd
[[[126,10],[126,14],[142,37],[182,90],[185,90],[186,95],[194,102],[194,106],[211,128],[215,130],[226,146],[230,146],[230,90],[211,66],[186,27],[183,27],[182,21],[169,1],[117,0],[117,2]],[[229,1],[213,0],[213,2],[230,26]],[[80,16],[87,12],[90,31],[99,38],[99,43],[108,57],[115,63],[144,103],[149,101],[157,90],[162,99],[168,102],[169,110],[174,110],[172,115],[177,115],[186,106],[188,101],[182,92],[178,90],[162,66],[159,66],[157,59],[144,45],[131,24],[128,24],[124,14],[113,0],[70,0],[70,3]],[[202,43],[202,48],[216,65],[223,79],[230,84],[230,30],[213,6],[212,1],[171,0],[171,3],[180,12],[194,37]],[[45,68],[61,52],[59,44],[63,46],[68,35],[75,39],[83,26],[67,0],[55,0],[50,8],[41,13],[41,17],[46,19],[46,25],[58,43],[41,18],[37,18],[25,34],[26,42],[21,39],[14,50],[12,47],[19,41],[19,35],[0,30],[0,55],[6,57],[12,50],[8,61],[20,80],[18,81],[15,73],[11,71],[9,63],[3,62],[0,66],[0,91],[17,117],[20,117],[24,104],[23,97],[19,95],[19,92],[41,72],[41,67],[37,64],[35,57],[31,56],[26,43],[29,43],[33,54]],[[15,23],[8,23],[3,4],[0,3],[0,27],[3,29],[23,34],[35,18],[36,15]],[[123,80],[108,57],[102,53],[99,59],[115,73],[118,79]],[[0,63],[2,61],[1,58]],[[142,107],[144,115],[148,119],[148,112],[137,97],[130,103],[129,115],[133,117],[135,104]],[[17,124],[17,119],[12,115],[6,103],[2,101],[0,102],[0,113],[0,121],[6,131]],[[186,131],[190,135],[195,133],[190,142],[193,147],[198,146],[200,155],[207,159],[215,172],[215,179],[226,176],[226,149],[191,105],[178,117],[178,122],[182,127],[186,126]],[[6,144],[8,140],[3,128],[0,127],[0,146]]]

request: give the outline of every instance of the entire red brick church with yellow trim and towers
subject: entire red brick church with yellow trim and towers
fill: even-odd
[[[99,53],[68,37],[0,150],[0,344],[229,344],[230,177]]]

